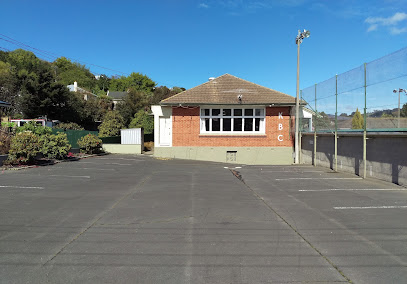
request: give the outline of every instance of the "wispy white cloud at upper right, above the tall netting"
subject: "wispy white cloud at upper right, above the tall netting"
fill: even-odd
[[[400,27],[399,25],[402,24],[404,21],[407,20],[407,14],[403,12],[397,12],[393,16],[390,17],[368,17],[365,20],[365,23],[369,24],[367,32],[375,31],[380,26],[389,27],[389,31],[391,34],[401,34],[407,32],[407,27]]]

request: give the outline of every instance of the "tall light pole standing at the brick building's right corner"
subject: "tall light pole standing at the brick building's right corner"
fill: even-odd
[[[297,44],[297,99],[295,100],[295,164],[300,163],[300,151],[299,151],[299,128],[300,128],[300,44],[304,38],[310,36],[310,32],[304,30],[301,32],[298,30],[298,35],[295,38]]]

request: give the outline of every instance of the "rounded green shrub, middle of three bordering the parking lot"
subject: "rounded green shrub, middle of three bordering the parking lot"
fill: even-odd
[[[41,153],[48,159],[62,160],[71,149],[71,144],[69,144],[65,133],[43,135],[40,140],[42,145]]]

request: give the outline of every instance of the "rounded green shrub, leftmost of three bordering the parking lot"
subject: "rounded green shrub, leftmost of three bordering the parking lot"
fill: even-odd
[[[10,163],[31,163],[42,148],[40,137],[30,131],[17,133],[11,138],[8,160]]]

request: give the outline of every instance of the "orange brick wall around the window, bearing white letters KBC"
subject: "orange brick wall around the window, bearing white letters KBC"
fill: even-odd
[[[290,108],[266,108],[264,135],[208,135],[200,134],[199,107],[173,107],[172,145],[201,147],[293,147],[290,136]],[[279,118],[282,113],[283,119]],[[281,126],[279,126],[281,124]],[[282,129],[280,129],[282,128]],[[282,135],[279,137],[279,135]],[[280,140],[283,141],[279,141]]]

